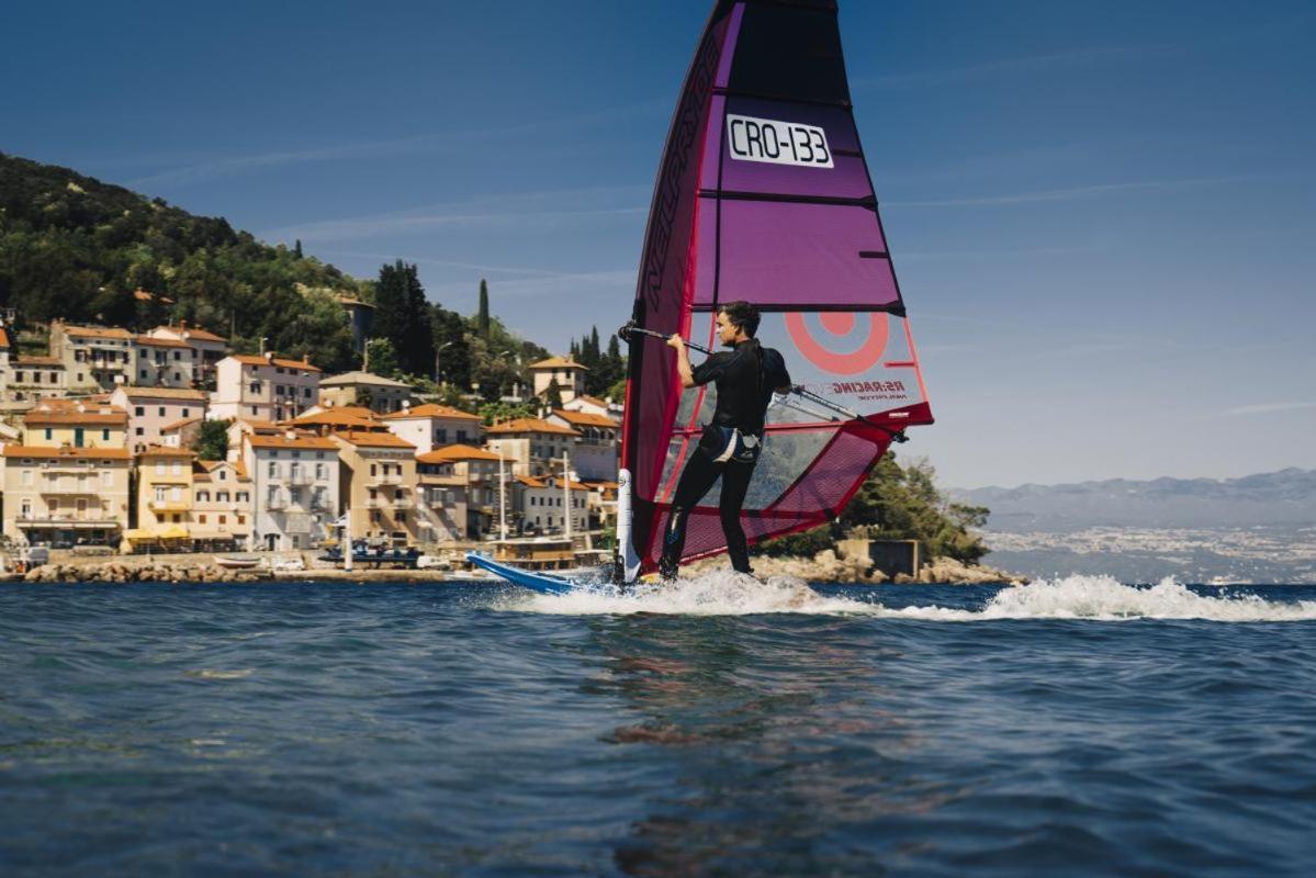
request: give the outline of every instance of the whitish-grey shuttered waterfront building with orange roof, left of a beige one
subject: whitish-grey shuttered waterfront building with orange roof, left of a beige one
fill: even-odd
[[[251,548],[283,552],[318,546],[338,515],[338,445],[292,430],[242,437],[251,478]]]

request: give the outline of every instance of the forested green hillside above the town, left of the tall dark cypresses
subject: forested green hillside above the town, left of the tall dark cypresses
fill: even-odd
[[[157,297],[138,301],[138,288]],[[240,351],[267,337],[333,371],[353,366],[340,295],[368,297],[371,284],[222,219],[0,153],[0,305],[20,328],[188,320]]]

